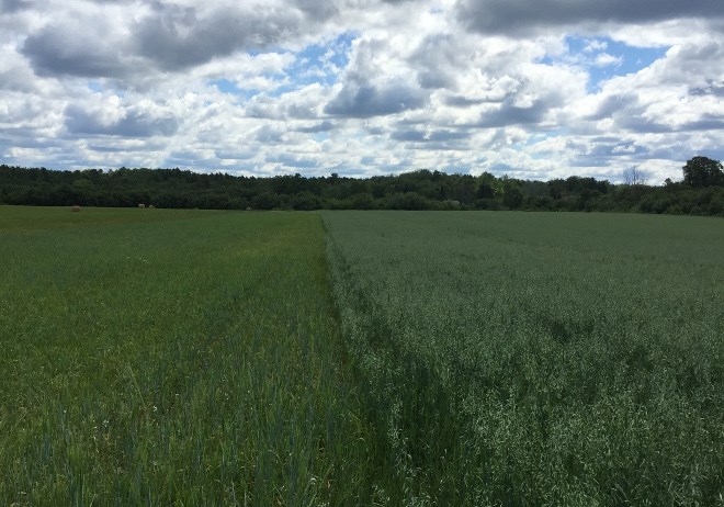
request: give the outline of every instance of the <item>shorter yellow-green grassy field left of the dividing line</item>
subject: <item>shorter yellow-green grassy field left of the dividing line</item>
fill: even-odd
[[[0,207],[0,505],[353,505],[318,215]]]

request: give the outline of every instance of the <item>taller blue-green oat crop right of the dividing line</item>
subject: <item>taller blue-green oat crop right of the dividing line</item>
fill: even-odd
[[[724,224],[326,212],[389,505],[724,502]]]

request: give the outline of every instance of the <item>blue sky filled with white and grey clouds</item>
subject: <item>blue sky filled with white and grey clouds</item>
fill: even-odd
[[[721,0],[0,0],[0,164],[681,179]]]

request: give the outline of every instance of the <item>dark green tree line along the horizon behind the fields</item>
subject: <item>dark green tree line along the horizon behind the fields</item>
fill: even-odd
[[[213,210],[524,210],[640,212],[724,216],[721,162],[694,157],[683,181],[645,184],[635,168],[626,183],[572,176],[529,181],[418,170],[367,179],[273,178],[180,169],[56,171],[0,165],[0,204],[146,206]]]

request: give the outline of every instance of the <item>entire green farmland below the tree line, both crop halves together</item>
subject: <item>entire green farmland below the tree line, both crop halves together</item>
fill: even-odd
[[[0,505],[722,505],[724,225],[0,206]]]

